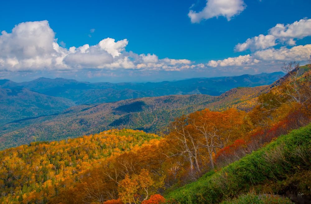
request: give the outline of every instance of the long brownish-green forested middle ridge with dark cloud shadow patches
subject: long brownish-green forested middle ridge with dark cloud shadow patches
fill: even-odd
[[[248,110],[267,86],[239,87],[220,96],[170,95],[122,100],[105,104],[73,106],[51,116],[25,118],[0,129],[0,149],[35,140],[63,140],[108,129],[139,129],[151,133],[167,131],[174,118],[209,108]]]

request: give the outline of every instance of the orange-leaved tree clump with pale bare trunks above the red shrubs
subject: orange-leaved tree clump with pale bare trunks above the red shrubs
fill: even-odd
[[[170,144],[166,156],[183,157],[188,162],[190,171],[196,169],[201,172],[207,163],[214,168],[217,151],[245,137],[250,128],[244,111],[197,111],[172,122],[166,137]]]

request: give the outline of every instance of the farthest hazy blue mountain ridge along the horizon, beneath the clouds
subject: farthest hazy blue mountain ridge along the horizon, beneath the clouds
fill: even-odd
[[[33,91],[50,96],[58,96],[67,90],[89,90],[89,89],[131,89],[135,91],[153,91],[155,95],[185,95],[196,89],[202,89],[201,94],[220,95],[237,86],[262,86],[269,85],[278,78],[283,77],[283,72],[261,73],[257,75],[244,74],[232,77],[216,78],[189,78],[178,81],[146,82],[146,83],[110,83],[110,82],[78,82],[74,79],[64,78],[38,78],[30,82],[13,82],[11,80],[1,80],[0,88],[27,88]]]

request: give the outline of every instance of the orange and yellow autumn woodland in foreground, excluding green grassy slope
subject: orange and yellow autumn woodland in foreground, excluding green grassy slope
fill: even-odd
[[[258,88],[266,91],[228,93],[239,102],[177,117],[163,137],[113,129],[5,149],[0,203],[178,203],[167,195],[309,124],[311,71],[282,68],[284,78]]]

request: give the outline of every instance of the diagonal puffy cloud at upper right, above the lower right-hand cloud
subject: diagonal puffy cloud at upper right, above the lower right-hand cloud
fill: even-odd
[[[292,24],[276,24],[269,29],[268,35],[259,35],[248,38],[244,43],[237,44],[234,51],[241,52],[245,50],[255,51],[273,47],[277,44],[296,45],[297,39],[311,36],[311,19],[301,19]],[[294,40],[296,39],[296,40]]]

